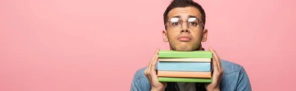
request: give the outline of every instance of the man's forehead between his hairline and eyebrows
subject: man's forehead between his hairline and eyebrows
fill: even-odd
[[[181,16],[182,19],[187,19],[189,15],[196,16],[198,19],[200,19],[201,17],[200,11],[197,8],[190,6],[190,7],[177,7],[172,9],[168,13],[168,19],[171,19],[174,16]]]

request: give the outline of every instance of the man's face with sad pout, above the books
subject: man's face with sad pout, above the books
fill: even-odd
[[[204,26],[202,23],[199,23],[198,27],[192,29],[188,27],[185,22],[190,21],[192,17],[196,17],[201,22],[199,10],[195,7],[174,8],[168,13],[167,21],[176,21],[176,19],[178,19],[174,17],[180,18],[183,23],[179,22],[182,23],[179,28],[173,28],[174,25],[178,25],[178,23],[166,23],[167,30],[163,30],[162,32],[163,41],[169,42],[170,48],[177,51],[201,50],[201,42],[207,40],[207,29],[203,29]],[[189,19],[190,17],[191,19]],[[188,23],[188,25],[194,26],[194,23]]]

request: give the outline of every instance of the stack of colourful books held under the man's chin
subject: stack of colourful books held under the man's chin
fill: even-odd
[[[159,50],[158,59],[159,82],[212,82],[211,51]]]

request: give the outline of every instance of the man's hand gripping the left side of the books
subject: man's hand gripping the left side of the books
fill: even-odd
[[[155,66],[158,61],[158,51],[159,48],[156,49],[148,67],[145,69],[144,74],[148,78],[148,81],[151,86],[151,91],[164,91],[167,84],[165,82],[158,82],[158,76],[156,74]]]

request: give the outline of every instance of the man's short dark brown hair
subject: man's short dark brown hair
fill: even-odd
[[[187,6],[193,6],[200,11],[201,21],[205,25],[206,24],[206,13],[205,13],[204,9],[201,7],[201,5],[199,5],[198,3],[196,3],[192,0],[173,0],[163,14],[164,25],[167,23],[168,14],[172,9],[177,8],[177,7],[187,7]],[[202,27],[204,28],[204,26],[202,26]]]

